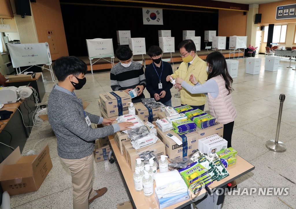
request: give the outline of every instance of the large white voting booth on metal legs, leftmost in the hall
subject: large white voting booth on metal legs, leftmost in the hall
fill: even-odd
[[[47,42],[34,44],[7,44],[7,46],[11,57],[12,67],[16,68],[17,74],[28,70],[32,66],[47,65],[49,68],[41,68],[49,70],[52,76],[52,82],[54,83],[54,73],[51,66],[52,58],[50,56]],[[30,67],[21,72],[20,67],[24,66]],[[17,69],[19,69],[20,72],[18,72]]]

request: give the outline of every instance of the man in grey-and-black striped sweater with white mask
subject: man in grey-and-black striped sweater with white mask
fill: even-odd
[[[116,57],[119,62],[114,65],[110,72],[110,83],[113,91],[128,91],[138,88],[138,96],[132,99],[132,102],[141,102],[145,98],[143,91],[146,87],[146,79],[142,65],[139,62],[132,61],[133,55],[128,46],[119,46],[116,49]]]

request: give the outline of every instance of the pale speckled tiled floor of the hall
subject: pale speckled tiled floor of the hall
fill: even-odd
[[[234,123],[232,144],[238,154],[255,165],[255,170],[237,179],[238,187],[288,187],[287,196],[262,196],[258,194],[243,196],[226,196],[222,208],[295,208],[296,207],[296,71],[287,68],[289,59],[280,61],[277,72],[264,71],[265,57],[262,59],[258,75],[245,73],[246,59],[239,59],[238,77],[234,78],[233,101],[238,112]],[[292,60],[295,68],[296,62]],[[174,66],[174,70],[176,67]],[[90,105],[86,111],[100,114],[98,107],[99,94],[111,91],[110,73],[86,75],[86,85],[75,91],[76,95]],[[42,103],[46,103],[48,94],[54,85],[50,81],[49,72],[44,72],[46,95]],[[172,94],[177,93],[171,89]],[[147,90],[144,91],[149,96]],[[286,152],[272,152],[265,147],[266,140],[274,139],[279,111],[279,94],[285,94],[280,137],[287,145]],[[173,106],[180,105],[180,99],[172,98]],[[208,110],[206,104],[205,110]],[[45,122],[44,124],[48,124]],[[72,184],[70,172],[59,160],[57,140],[50,125],[39,131],[45,139],[36,145],[39,151],[49,144],[53,168],[37,192],[15,195],[11,197],[11,207],[25,208],[72,208]],[[38,131],[32,131],[24,150],[33,146],[43,137]],[[115,164],[108,161],[94,163],[94,188],[108,187],[108,192],[91,203],[90,208],[116,208],[117,203],[128,200],[128,194]],[[132,177],[131,177],[132,178]]]

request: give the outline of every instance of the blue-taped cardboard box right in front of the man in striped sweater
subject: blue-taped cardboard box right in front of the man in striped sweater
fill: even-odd
[[[101,107],[108,118],[118,116],[118,102],[113,94],[121,100],[123,115],[128,113],[128,102],[131,102],[131,96],[122,90],[100,94]]]

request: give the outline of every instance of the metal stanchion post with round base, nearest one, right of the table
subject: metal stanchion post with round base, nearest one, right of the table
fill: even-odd
[[[283,142],[279,141],[279,129],[281,127],[281,113],[283,111],[285,95],[284,94],[279,95],[279,100],[280,100],[280,105],[279,105],[278,123],[276,127],[276,139],[268,140],[266,142],[266,147],[274,152],[284,152],[287,149],[287,146]]]

